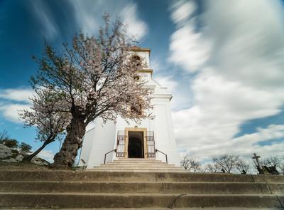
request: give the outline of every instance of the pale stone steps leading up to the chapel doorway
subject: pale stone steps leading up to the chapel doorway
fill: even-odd
[[[99,167],[89,169],[100,172],[182,172],[182,167],[168,164],[157,159],[120,158],[113,162],[101,164]]]

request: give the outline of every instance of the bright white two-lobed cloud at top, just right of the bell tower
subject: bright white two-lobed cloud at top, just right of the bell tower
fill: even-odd
[[[170,62],[184,70],[195,72],[204,66],[209,58],[211,44],[195,31],[196,6],[193,1],[176,1],[171,6],[171,18],[177,24],[177,31],[170,36]]]

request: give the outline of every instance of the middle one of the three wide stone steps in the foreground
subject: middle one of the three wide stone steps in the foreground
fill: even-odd
[[[0,192],[136,194],[284,194],[284,183],[208,182],[0,182]]]

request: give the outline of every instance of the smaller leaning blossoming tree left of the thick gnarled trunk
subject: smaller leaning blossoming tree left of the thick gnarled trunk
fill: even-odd
[[[26,127],[35,126],[37,132],[35,140],[43,142],[40,148],[24,157],[24,160],[31,161],[46,145],[54,142],[58,136],[63,135],[70,123],[68,112],[57,111],[62,106],[57,97],[50,88],[35,90],[35,97],[31,98],[33,106],[29,110],[19,112],[20,119],[24,121]],[[28,151],[31,148],[23,145],[23,149]]]

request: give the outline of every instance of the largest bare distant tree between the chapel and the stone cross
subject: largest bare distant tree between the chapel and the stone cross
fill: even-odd
[[[225,172],[231,173],[233,169],[236,169],[236,163],[239,162],[239,156],[235,154],[223,154],[218,157],[213,157],[213,162]]]

